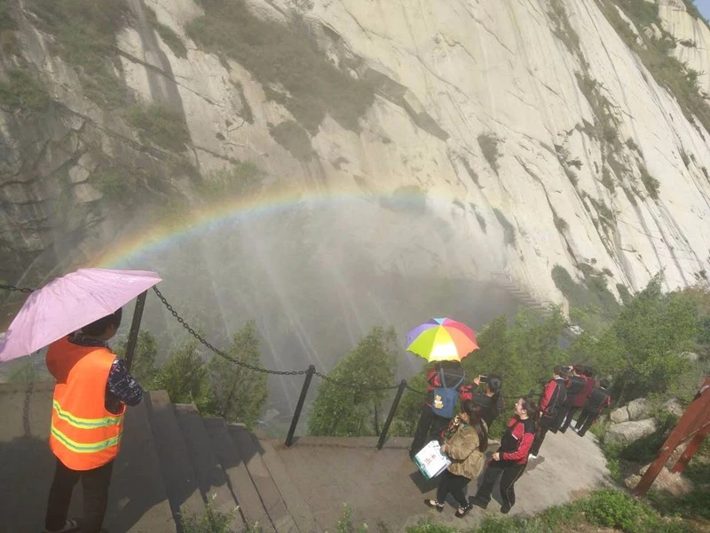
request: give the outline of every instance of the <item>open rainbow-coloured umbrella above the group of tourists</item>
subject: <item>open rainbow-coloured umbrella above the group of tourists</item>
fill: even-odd
[[[476,333],[450,318],[432,318],[406,334],[406,349],[427,361],[461,361],[478,349]]]

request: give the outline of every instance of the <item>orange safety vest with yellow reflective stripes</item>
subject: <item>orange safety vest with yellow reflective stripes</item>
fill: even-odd
[[[106,410],[106,381],[116,356],[100,346],[53,342],[47,368],[57,380],[51,410],[50,448],[67,468],[91,470],[118,455],[123,413]]]

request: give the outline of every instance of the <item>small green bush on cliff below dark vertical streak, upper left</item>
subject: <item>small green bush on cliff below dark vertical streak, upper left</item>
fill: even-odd
[[[150,140],[173,152],[185,150],[190,140],[182,111],[162,104],[132,106],[126,112],[126,120],[140,130],[143,142]]]

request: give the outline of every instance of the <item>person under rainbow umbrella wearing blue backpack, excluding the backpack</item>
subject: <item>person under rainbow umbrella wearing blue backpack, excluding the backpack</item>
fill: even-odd
[[[427,399],[422,407],[422,415],[419,418],[419,423],[414,432],[414,440],[409,449],[409,457],[413,457],[419,453],[427,442],[435,439],[441,439],[442,432],[451,422],[451,418],[439,417],[431,409],[431,404],[434,402],[434,389],[438,386],[444,386],[441,383],[440,376],[444,375],[446,386],[454,387],[457,383],[466,379],[466,370],[461,368],[459,361],[440,361],[437,362],[429,373],[427,373]],[[461,387],[460,387],[461,390]]]

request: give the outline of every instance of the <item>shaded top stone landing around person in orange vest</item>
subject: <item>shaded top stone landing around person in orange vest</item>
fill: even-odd
[[[47,439],[51,423],[53,383],[0,386],[0,532],[42,531],[56,458]],[[82,489],[77,486],[69,516],[82,515]],[[122,447],[106,509],[106,528],[114,533],[175,531],[158,467],[146,405],[126,412]]]

